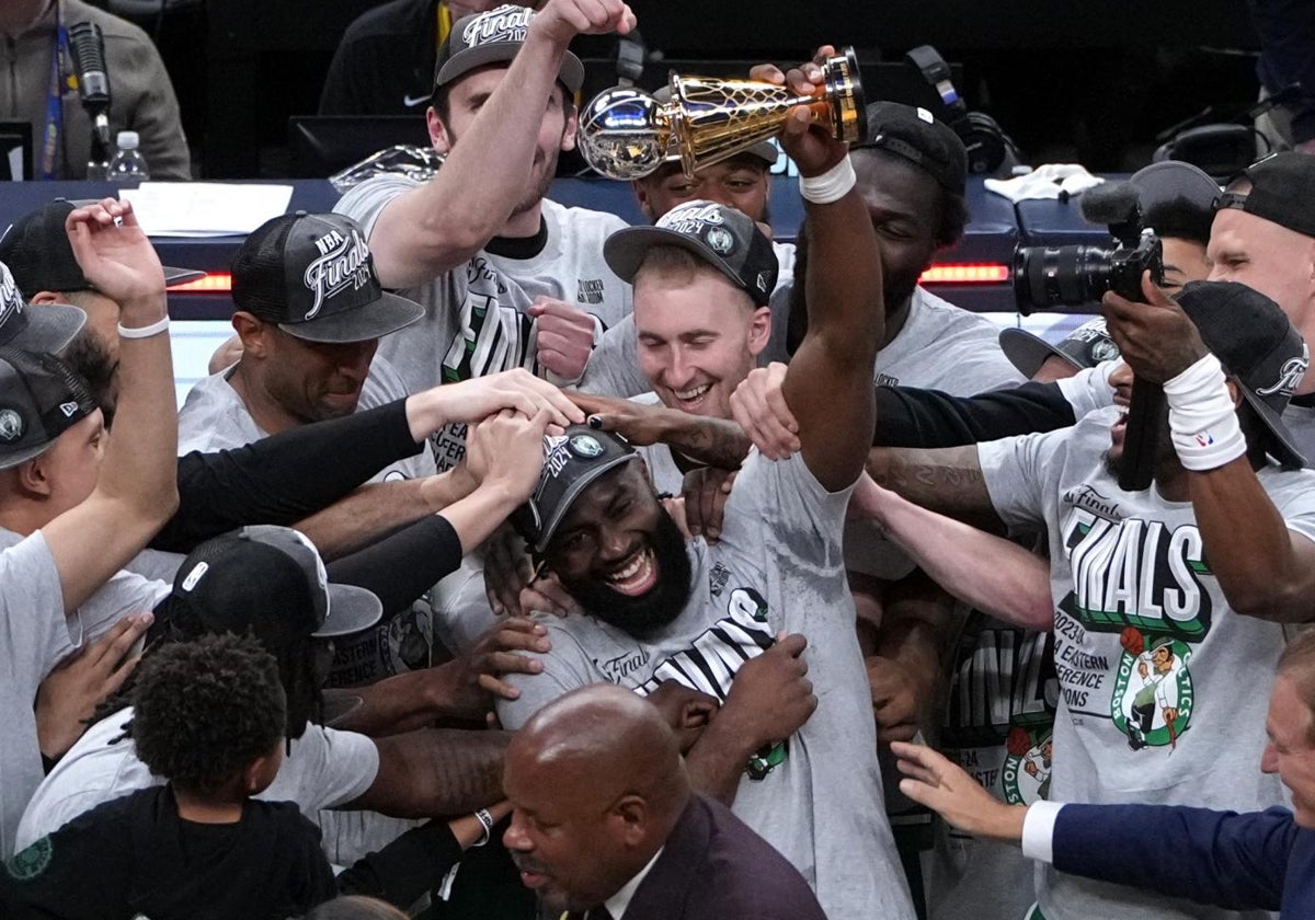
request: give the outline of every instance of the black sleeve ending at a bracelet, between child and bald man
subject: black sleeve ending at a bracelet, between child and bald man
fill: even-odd
[[[381,898],[406,909],[422,894],[437,888],[460,860],[462,845],[447,823],[429,821],[343,870],[338,875],[338,892]]]

